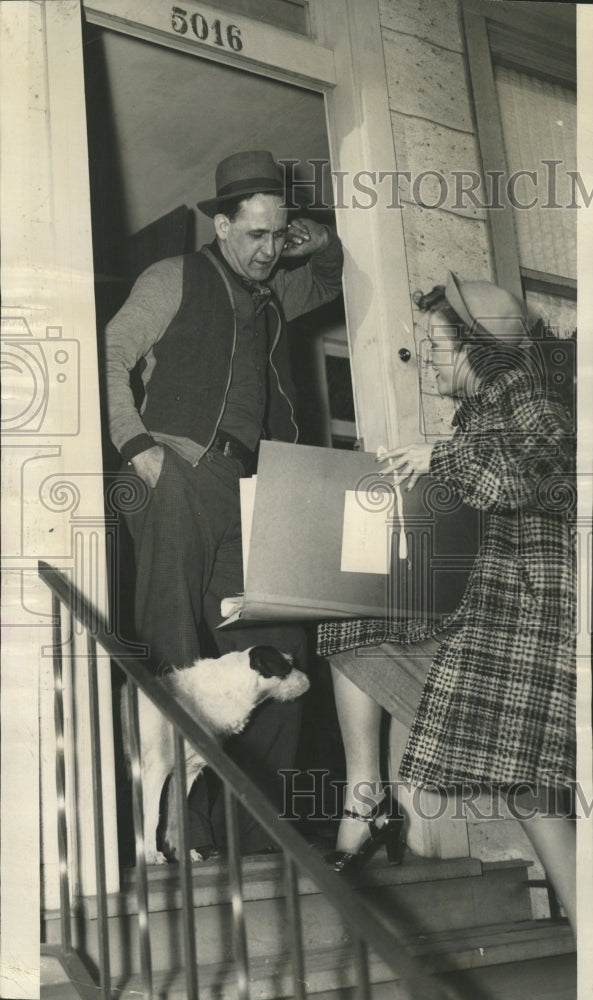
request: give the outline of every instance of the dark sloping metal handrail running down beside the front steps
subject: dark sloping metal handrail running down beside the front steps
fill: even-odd
[[[411,997],[418,998],[418,1000],[420,998],[421,1000],[450,1000],[453,995],[450,989],[439,982],[434,975],[427,972],[426,959],[423,959],[421,964],[409,951],[404,940],[406,932],[409,934],[409,924],[404,925],[403,921],[399,921],[396,913],[388,921],[383,914],[371,909],[360,895],[354,896],[350,886],[339,875],[332,872],[320,856],[311,851],[310,846],[297,830],[279,819],[276,809],[269,799],[227,756],[219,743],[185,710],[183,705],[174,701],[171,695],[165,692],[160,681],[149,672],[142,662],[129,655],[127,647],[114,637],[106,620],[97,613],[97,610],[78,588],[59,570],[42,560],[38,563],[38,569],[41,579],[55,597],[70,610],[92,636],[91,648],[94,648],[95,643],[99,644],[111,660],[124,671],[128,679],[146,697],[150,698],[174,726],[177,737],[192,744],[205,757],[209,766],[224,782],[226,801],[229,801],[232,793],[233,802],[239,802],[244,806],[257,818],[258,823],[270,837],[278,842],[288,863],[294,863],[299,870],[306,872],[318,888],[325,893],[339,912],[341,919],[349,927],[356,943],[357,965],[359,968],[362,967],[363,972],[366,973],[366,982],[363,981],[361,995],[364,997],[368,995],[365,947],[368,946],[396,976],[401,978],[410,991]],[[91,673],[94,672],[91,670]],[[176,767],[178,765],[179,760],[176,761]],[[176,776],[178,788],[181,789],[184,785],[179,782],[179,774]],[[179,798],[181,798],[181,793]],[[231,825],[232,822],[231,817]],[[240,885],[235,885],[234,891],[240,894]],[[240,922],[235,928],[235,933],[241,938]],[[101,985],[103,987],[103,982]]]

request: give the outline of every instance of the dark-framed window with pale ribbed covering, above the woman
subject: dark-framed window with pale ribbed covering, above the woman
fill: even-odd
[[[576,328],[575,4],[463,0],[497,281],[561,337]],[[488,182],[486,183],[488,188]],[[499,189],[500,190],[500,189]],[[525,207],[530,206],[530,207]]]

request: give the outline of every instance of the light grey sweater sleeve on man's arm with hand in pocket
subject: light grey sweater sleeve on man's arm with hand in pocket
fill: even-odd
[[[158,261],[144,271],[105,331],[105,377],[111,439],[130,460],[154,445],[134,402],[130,372],[147,358],[181,303],[183,258]]]

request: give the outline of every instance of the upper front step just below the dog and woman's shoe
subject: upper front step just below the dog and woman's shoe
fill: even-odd
[[[243,861],[243,893],[249,954],[268,959],[289,948],[284,863],[281,856]],[[352,885],[387,919],[397,913],[411,931],[424,934],[455,931],[485,924],[531,918],[524,862],[486,866],[471,858],[431,860],[406,856],[391,867],[373,859]],[[207,862],[194,872],[196,947],[201,964],[232,958],[232,909],[226,865]],[[303,938],[306,950],[331,950],[347,940],[346,928],[331,903],[307,877],[299,878]],[[153,968],[183,966],[183,925],[177,866],[149,871],[150,929]],[[122,891],[109,898],[112,970],[116,976],[139,971],[135,874],[126,872]],[[46,939],[58,931],[46,921]],[[77,927],[84,954],[98,955],[96,903],[86,900]]]

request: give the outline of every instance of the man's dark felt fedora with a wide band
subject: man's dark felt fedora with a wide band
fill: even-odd
[[[216,198],[198,202],[198,208],[211,219],[221,211],[221,202],[226,198],[251,194],[284,196],[286,191],[284,171],[265,149],[233,153],[221,160],[216,168],[215,183]]]

